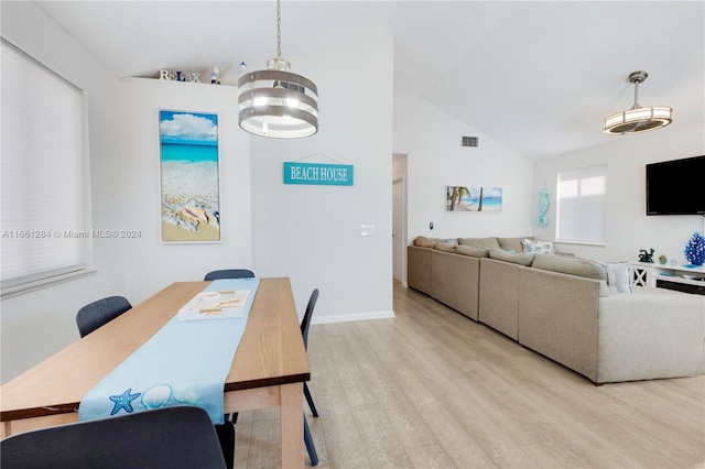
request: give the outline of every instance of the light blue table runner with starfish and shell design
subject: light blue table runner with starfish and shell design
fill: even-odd
[[[225,380],[247,326],[259,279],[216,280],[204,292],[249,290],[242,317],[178,320],[177,312],[80,402],[78,419],[197,405],[224,422]]]

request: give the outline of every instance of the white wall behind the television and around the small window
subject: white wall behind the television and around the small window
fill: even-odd
[[[703,122],[674,121],[665,129],[638,135],[615,137],[614,142],[594,149],[538,161],[534,164],[532,220],[539,212],[539,190],[551,192],[549,225],[533,223],[533,234],[555,239],[555,189],[562,171],[607,163],[606,246],[558,244],[562,251],[601,261],[638,260],[640,249],[655,250],[654,259],[665,254],[685,263],[683,248],[694,231],[704,230],[705,218],[650,216],[646,212],[646,165],[705,154]],[[683,184],[703,184],[703,175]]]

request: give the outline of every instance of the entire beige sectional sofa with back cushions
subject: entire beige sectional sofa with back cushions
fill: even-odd
[[[594,383],[705,372],[705,296],[618,293],[609,265],[524,253],[523,239],[416,238],[408,284]]]

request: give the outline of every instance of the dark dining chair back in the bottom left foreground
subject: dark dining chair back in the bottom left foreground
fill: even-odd
[[[0,441],[2,468],[226,468],[208,413],[171,406],[42,428]]]

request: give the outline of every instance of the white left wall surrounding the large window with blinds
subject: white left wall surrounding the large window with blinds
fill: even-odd
[[[119,80],[35,3],[2,2],[1,8],[4,37],[88,94],[93,225],[119,228],[123,218],[116,132]],[[97,239],[94,275],[0,302],[2,382],[77,340],[75,317],[83,305],[126,294],[124,252],[121,240]]]

